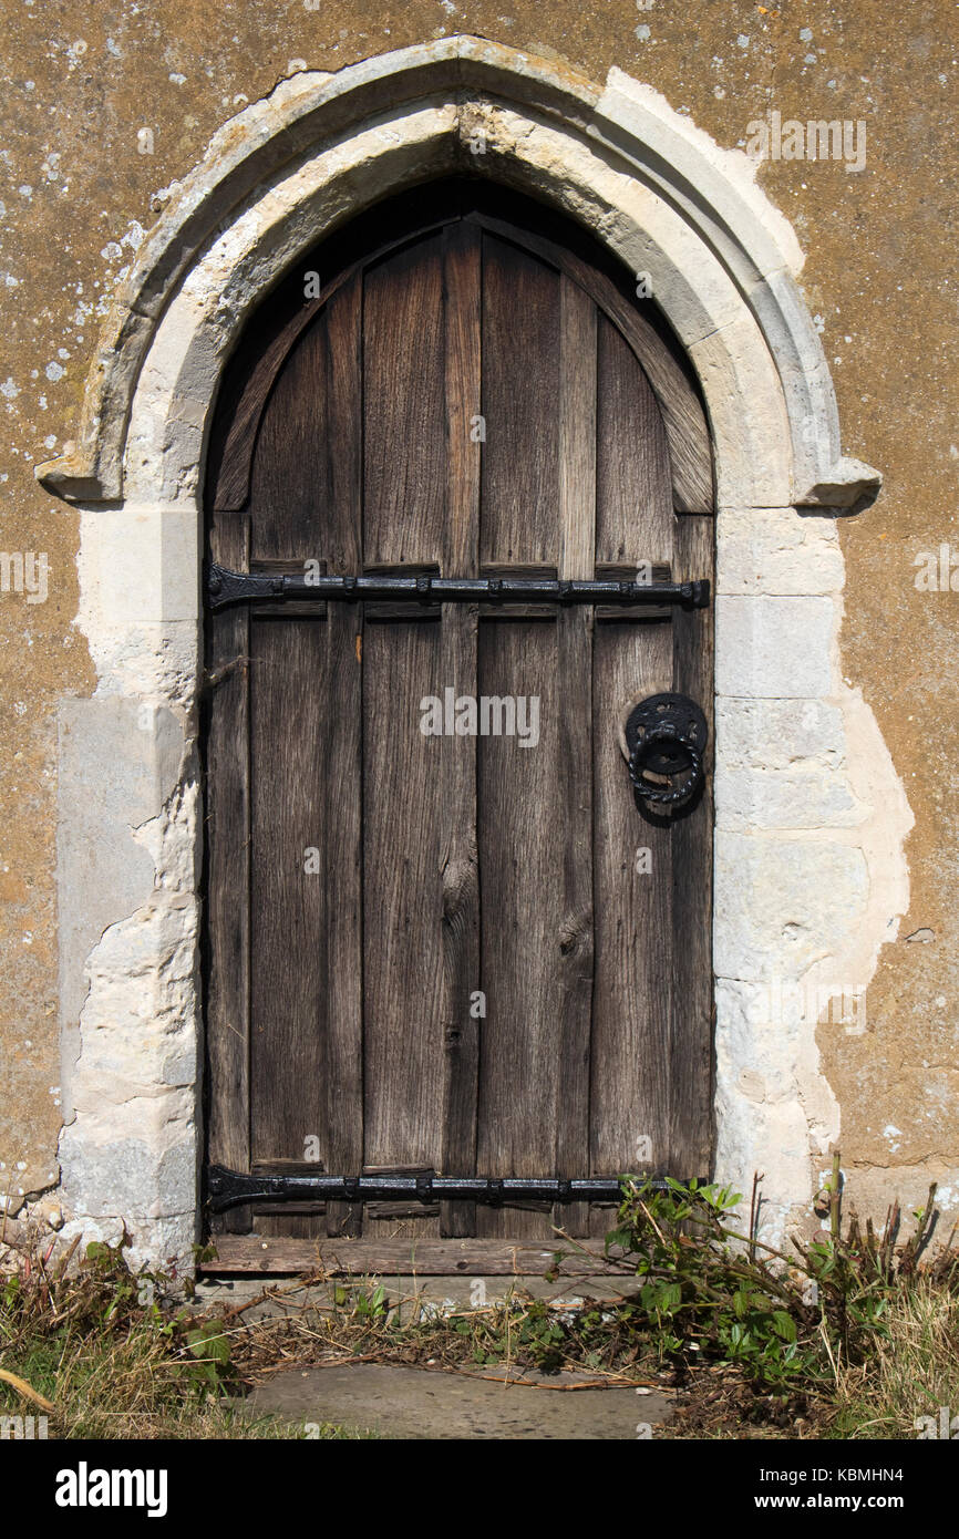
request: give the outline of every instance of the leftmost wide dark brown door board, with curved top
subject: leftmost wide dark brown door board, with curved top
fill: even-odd
[[[299,328],[265,400],[249,471],[251,565],[325,556],[326,328],[325,312]],[[317,1139],[326,1162],[326,622],[289,611],[254,613],[251,625],[251,1148],[260,1160],[296,1159]],[[263,1213],[256,1225],[305,1237],[320,1219]]]

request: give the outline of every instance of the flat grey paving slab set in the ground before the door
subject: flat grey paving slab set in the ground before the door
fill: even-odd
[[[656,1436],[671,1413],[670,1396],[659,1390],[594,1387],[582,1374],[525,1377],[533,1382],[331,1364],[279,1373],[245,1404],[254,1413],[336,1422],[389,1439],[636,1441]]]

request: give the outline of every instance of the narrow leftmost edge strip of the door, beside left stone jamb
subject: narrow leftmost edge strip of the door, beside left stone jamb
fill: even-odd
[[[211,557],[246,568],[249,520],[216,514]],[[249,1171],[249,620],[243,605],[211,616],[214,680],[206,743],[208,937],[206,1150],[212,1165]],[[216,682],[219,680],[219,682]],[[243,1233],[249,1208],[220,1228]]]

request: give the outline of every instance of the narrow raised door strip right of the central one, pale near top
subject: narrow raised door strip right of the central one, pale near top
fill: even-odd
[[[560,279],[559,576],[591,577],[596,549],[596,306]],[[559,933],[559,1116],[556,1170],[590,1160],[593,1014],[593,609],[562,609],[557,626],[557,751],[562,820]],[[585,1234],[588,1203],[557,1203],[554,1222]]]

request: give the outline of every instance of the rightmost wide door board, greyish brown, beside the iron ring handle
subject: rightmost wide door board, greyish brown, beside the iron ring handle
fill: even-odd
[[[673,492],[656,399],[605,319],[597,351],[597,560],[671,563]],[[620,751],[631,702],[670,688],[670,620],[597,623],[593,1174],[671,1170],[673,834],[667,819],[636,805]],[[594,1210],[590,1227],[603,1234],[611,1213]]]

